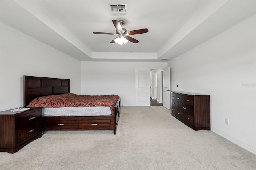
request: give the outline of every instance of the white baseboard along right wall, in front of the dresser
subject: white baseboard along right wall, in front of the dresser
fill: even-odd
[[[242,148],[248,150],[249,152],[252,152],[253,154],[256,154],[256,148],[253,148],[252,146],[249,146],[248,144],[245,144],[244,142],[241,142],[240,140],[233,138],[232,136],[229,136],[228,134],[214,128],[211,127],[211,131],[226,138],[227,140],[229,140],[230,142],[233,142],[234,144],[237,144],[238,146],[241,146]]]

